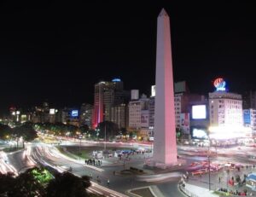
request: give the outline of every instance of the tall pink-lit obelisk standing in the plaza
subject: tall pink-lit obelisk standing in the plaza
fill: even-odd
[[[165,9],[157,19],[154,106],[155,165],[177,163],[170,20]]]

